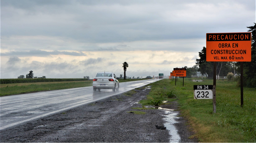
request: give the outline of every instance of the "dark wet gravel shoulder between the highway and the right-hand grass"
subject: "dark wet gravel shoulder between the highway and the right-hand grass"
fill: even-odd
[[[158,109],[138,110],[138,104],[150,89],[136,89],[132,95],[119,94],[69,111],[33,120],[21,126],[0,131],[0,142],[148,142],[167,143],[171,138],[163,126],[165,112]],[[177,102],[163,108],[178,109]],[[142,111],[145,114],[135,114]],[[173,111],[179,112],[179,111]],[[188,130],[186,120],[177,118],[175,128],[179,142],[197,142]]]

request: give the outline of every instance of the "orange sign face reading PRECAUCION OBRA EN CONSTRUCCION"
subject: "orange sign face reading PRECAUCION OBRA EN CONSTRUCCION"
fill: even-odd
[[[207,33],[206,61],[251,61],[251,32]]]

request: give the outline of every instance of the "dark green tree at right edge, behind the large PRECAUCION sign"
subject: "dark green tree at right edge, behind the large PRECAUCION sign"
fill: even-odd
[[[247,28],[248,32],[252,32],[252,61],[244,62],[244,84],[256,87],[256,23]]]

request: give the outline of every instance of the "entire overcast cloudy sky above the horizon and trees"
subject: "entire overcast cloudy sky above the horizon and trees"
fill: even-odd
[[[255,0],[1,0],[0,78],[169,73],[206,33],[247,32]]]

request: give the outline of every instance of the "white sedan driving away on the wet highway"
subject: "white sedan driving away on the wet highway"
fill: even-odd
[[[98,72],[93,79],[93,91],[100,89],[112,89],[113,92],[119,90],[119,82],[117,77],[112,72]]]

